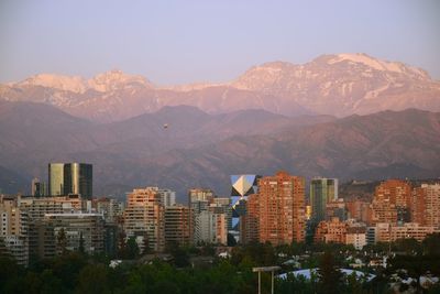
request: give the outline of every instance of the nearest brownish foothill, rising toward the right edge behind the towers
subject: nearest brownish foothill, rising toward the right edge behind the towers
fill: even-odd
[[[381,112],[304,127],[277,137],[234,137],[209,146],[143,159],[130,185],[168,185],[180,192],[210,186],[229,192],[229,175],[277,170],[349,178],[440,175],[440,113]],[[131,170],[131,168],[130,168]],[[114,178],[112,178],[114,179]]]

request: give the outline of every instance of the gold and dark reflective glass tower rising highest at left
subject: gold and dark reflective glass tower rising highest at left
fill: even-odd
[[[92,165],[87,163],[50,163],[50,196],[78,194],[86,199],[92,197]]]

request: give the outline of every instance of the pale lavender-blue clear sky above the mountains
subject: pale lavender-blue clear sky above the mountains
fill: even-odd
[[[0,83],[110,69],[157,85],[366,53],[440,79],[440,1],[0,0]]]

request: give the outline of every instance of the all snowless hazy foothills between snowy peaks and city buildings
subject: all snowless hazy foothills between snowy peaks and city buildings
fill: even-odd
[[[3,189],[46,178],[51,161],[92,163],[97,194],[112,195],[146,185],[179,197],[194,186],[227,194],[230,174],[277,170],[308,178],[440,175],[440,113],[415,109],[334,120],[179,106],[97,124],[41,104],[1,102],[0,137]]]

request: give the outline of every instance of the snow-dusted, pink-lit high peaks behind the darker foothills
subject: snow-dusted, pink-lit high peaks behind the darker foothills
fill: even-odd
[[[440,111],[440,81],[403,63],[337,54],[302,65],[266,63],[222,84],[161,87],[121,70],[90,79],[41,74],[1,85],[0,99],[48,104],[97,122],[121,121],[178,105],[211,115],[264,109],[288,117],[345,117],[407,108]]]

